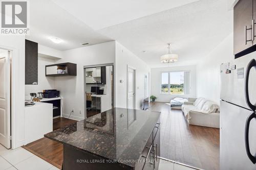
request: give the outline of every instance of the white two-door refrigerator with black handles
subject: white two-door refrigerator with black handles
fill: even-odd
[[[256,53],[220,68],[220,169],[256,169]]]

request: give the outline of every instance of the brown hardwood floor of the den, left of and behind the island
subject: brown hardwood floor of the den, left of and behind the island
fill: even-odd
[[[55,118],[53,119],[53,130],[57,130],[75,122],[77,121],[64,117]],[[63,144],[44,137],[25,145],[23,148],[61,169],[63,161]]]

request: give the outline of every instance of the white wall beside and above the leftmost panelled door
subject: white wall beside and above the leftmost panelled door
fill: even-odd
[[[25,141],[25,36],[0,35],[0,47],[12,50],[12,148]]]

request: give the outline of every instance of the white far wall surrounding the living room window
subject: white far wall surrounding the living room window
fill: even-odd
[[[161,72],[163,71],[190,71],[190,94],[161,94]],[[151,94],[157,97],[157,102],[170,102],[176,97],[193,98],[196,96],[196,66],[174,66],[151,69]]]

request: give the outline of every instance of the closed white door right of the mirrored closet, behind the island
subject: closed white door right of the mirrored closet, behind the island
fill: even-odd
[[[135,70],[127,68],[127,108],[135,109]]]

